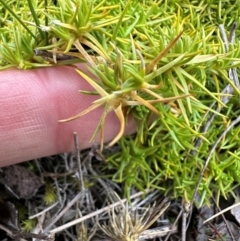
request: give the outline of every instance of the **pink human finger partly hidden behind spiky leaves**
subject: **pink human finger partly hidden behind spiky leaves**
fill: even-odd
[[[86,69],[84,65],[81,68]],[[73,132],[78,133],[80,149],[89,147],[103,108],[71,122],[58,122],[80,113],[98,98],[79,94],[78,90],[92,87],[72,67],[2,71],[0,166],[71,151]],[[133,123],[126,126],[128,133],[133,129]],[[119,122],[111,112],[106,120],[105,141],[113,139],[118,130]]]

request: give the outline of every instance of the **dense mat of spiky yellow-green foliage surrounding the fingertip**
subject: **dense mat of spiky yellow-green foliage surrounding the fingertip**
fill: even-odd
[[[47,7],[38,0],[32,1],[33,7],[26,0],[4,2],[8,8],[0,6],[0,68],[76,62],[56,62],[59,54],[87,62],[96,78],[78,73],[99,100],[64,121],[103,106],[92,138],[100,132],[103,141],[106,115],[114,111],[120,130],[110,145],[119,141],[122,151],[108,157],[105,169],[114,181],[124,183],[125,195],[135,186],[161,189],[175,197],[186,192],[191,199],[211,145],[239,115],[239,90],[228,70],[233,63],[240,65],[240,43],[230,44],[226,52],[218,25],[230,30],[239,21],[240,1],[58,0]],[[36,56],[34,49],[53,57]],[[235,92],[226,106],[221,91],[228,84]],[[208,132],[201,133],[203,116],[216,113],[209,107],[214,101],[225,108]],[[130,115],[137,134],[124,138]],[[204,141],[192,156],[198,137]],[[239,184],[238,143],[236,126],[221,141],[204,174],[201,203],[214,192],[227,198],[233,184]]]

